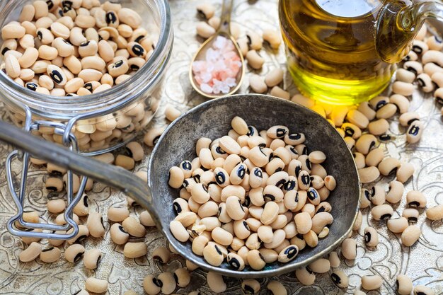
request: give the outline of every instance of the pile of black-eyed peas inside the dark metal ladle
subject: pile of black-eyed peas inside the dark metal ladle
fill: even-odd
[[[169,170],[169,185],[180,188],[173,236],[192,241],[210,265],[226,258],[234,270],[262,270],[316,247],[333,223],[326,155],[308,155],[304,134],[285,126],[258,132],[234,117],[231,127],[219,139],[198,139],[197,158]]]

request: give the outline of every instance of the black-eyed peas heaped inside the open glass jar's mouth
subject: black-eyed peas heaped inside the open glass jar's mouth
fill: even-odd
[[[136,11],[106,1],[50,0],[23,6],[1,28],[2,69],[32,91],[86,96],[129,79],[151,57],[156,37]]]

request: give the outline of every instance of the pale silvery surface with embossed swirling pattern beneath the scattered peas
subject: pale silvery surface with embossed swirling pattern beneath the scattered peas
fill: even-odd
[[[219,13],[219,1],[212,2],[217,6]],[[242,33],[246,30],[278,28],[276,0],[236,0],[234,2],[232,19],[241,25]],[[188,81],[190,59],[202,42],[200,37],[195,36],[195,25],[199,21],[195,6],[198,3],[200,3],[198,0],[170,1],[175,44],[171,64],[166,74],[162,108],[166,103],[171,103],[176,108],[185,111],[202,102],[202,98],[192,91]],[[277,66],[285,68],[283,46],[278,52],[273,52],[266,47],[262,50],[262,54],[266,62],[258,74],[266,74]],[[285,75],[284,88],[291,93],[296,92],[289,75]],[[248,79],[245,79],[240,92],[248,91]],[[423,96],[422,93],[416,93],[411,100],[411,109],[420,113],[426,127],[420,143],[406,144],[405,129],[399,127],[396,120],[393,120],[390,133],[394,140],[381,145],[386,155],[413,163],[415,173],[412,180],[405,184],[405,188],[424,192],[428,197],[428,207],[443,203],[443,122],[439,108],[430,95]],[[0,109],[0,115],[2,118],[6,117],[3,109]],[[163,109],[159,111],[155,124],[165,124]],[[87,249],[100,248],[104,253],[98,270],[86,270],[82,262],[73,265],[64,259],[52,264],[45,264],[40,260],[28,263],[19,262],[18,254],[23,249],[23,243],[20,238],[11,236],[5,226],[6,221],[16,212],[12,199],[8,195],[4,168],[4,158],[10,150],[11,146],[0,144],[0,294],[74,294],[84,287],[85,279],[91,276],[107,279],[109,294],[123,294],[127,289],[144,294],[142,281],[146,274],[173,272],[184,265],[183,259],[178,255],[173,255],[166,265],[151,259],[151,252],[154,248],[166,243],[155,229],[148,229],[145,238],[134,239],[134,241],[145,241],[148,245],[148,255],[135,260],[125,259],[122,255],[122,247],[110,241],[108,233],[103,239],[89,238],[85,247]],[[151,149],[146,149],[146,158],[137,165],[136,170],[146,170],[150,152]],[[47,192],[42,183],[46,177],[44,169],[33,168],[28,180],[30,199],[28,208],[37,209],[43,216],[46,216],[45,218],[47,218]],[[391,179],[386,179],[386,182],[389,180]],[[105,227],[109,229],[110,224],[105,216],[106,209],[111,205],[125,204],[125,196],[121,192],[96,183],[89,197],[92,200],[92,209],[103,213]],[[401,204],[394,206],[395,216],[401,215],[404,207],[404,200]],[[132,214],[139,214],[141,211],[131,210],[133,210]],[[418,243],[408,248],[401,245],[398,235],[387,231],[384,222],[369,218],[368,212],[369,209],[364,209],[362,229],[353,235],[357,239],[357,259],[343,260],[340,265],[350,277],[350,287],[347,290],[338,289],[331,282],[329,274],[317,274],[313,286],[303,287],[292,272],[277,278],[287,288],[288,294],[353,294],[354,290],[359,288],[360,278],[365,274],[379,274],[384,279],[381,289],[368,294],[395,294],[398,274],[408,274],[413,279],[414,285],[425,284],[434,289],[436,294],[443,294],[442,221],[431,223],[425,219],[425,214],[421,214],[418,225],[422,230],[422,236]],[[369,250],[364,246],[362,230],[366,226],[374,226],[379,231],[380,243],[376,250]],[[42,241],[42,243],[47,242]],[[267,294],[265,285],[270,279],[260,279],[262,283],[260,294]],[[228,284],[226,294],[241,294],[240,280],[226,278],[225,281]],[[189,291],[197,289],[201,294],[211,294],[206,284],[205,272],[202,270],[192,272],[190,285],[186,289],[177,289],[176,293],[188,294]]]

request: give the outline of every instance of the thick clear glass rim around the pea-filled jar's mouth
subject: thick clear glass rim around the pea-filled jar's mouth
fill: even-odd
[[[154,88],[159,82],[171,57],[173,47],[171,10],[168,1],[152,1],[154,1],[154,6],[148,0],[140,0],[142,4],[153,9],[154,16],[158,15],[159,19],[156,21],[159,21],[159,41],[149,62],[146,62],[130,79],[100,93],[61,99],[57,96],[30,91],[15,83],[1,71],[0,91],[3,94],[0,96],[1,100],[4,100],[6,104],[28,105],[33,114],[55,120],[69,120],[79,115],[82,118],[96,117],[134,103],[140,95],[149,88]],[[14,15],[10,12],[16,9],[17,4],[16,1],[4,1],[4,3],[5,5],[0,5],[0,7],[3,6],[0,9],[0,19],[6,20],[4,13]],[[1,23],[1,26],[4,23]]]

